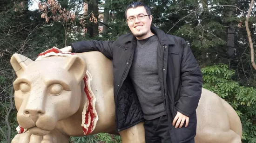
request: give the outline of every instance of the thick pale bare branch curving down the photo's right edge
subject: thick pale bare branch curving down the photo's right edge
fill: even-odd
[[[251,52],[250,52],[250,54],[251,54],[251,64],[252,64],[253,68],[256,69],[256,64],[255,64],[255,61],[254,61],[253,43],[252,43],[251,34],[250,34],[250,30],[249,30],[249,18],[250,18],[250,13],[251,13],[251,9],[252,9],[253,4],[254,4],[254,0],[251,0],[249,11],[248,11],[246,19],[245,19],[245,28],[246,28],[247,37],[248,37],[248,40],[249,40],[249,45],[250,45],[250,50],[251,50]]]

